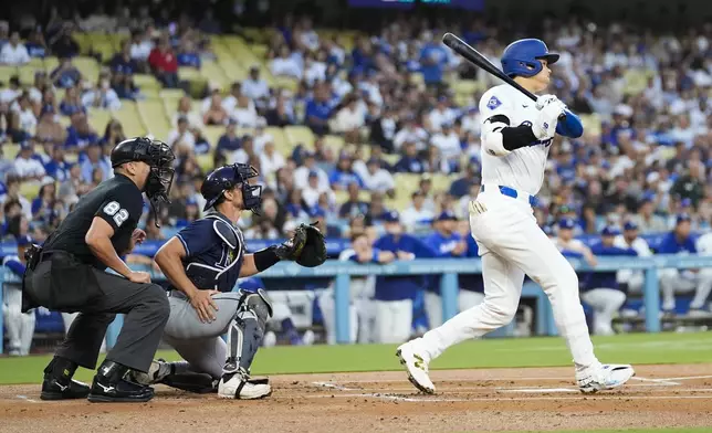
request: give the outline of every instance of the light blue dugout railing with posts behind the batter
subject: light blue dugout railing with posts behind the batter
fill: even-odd
[[[651,257],[607,256],[598,257],[598,264],[595,267],[577,258],[570,258],[569,262],[579,273],[619,270],[643,271],[646,279],[642,287],[642,299],[645,306],[645,329],[648,332],[659,332],[661,330],[658,271],[662,268],[687,270],[712,267],[712,256],[698,255],[655,255]],[[448,319],[453,317],[458,311],[458,274],[480,273],[482,273],[482,264],[479,258],[428,258],[392,262],[386,265],[358,265],[329,260],[322,266],[311,268],[302,267],[294,262],[281,262],[260,274],[260,276],[262,278],[335,277],[336,341],[338,344],[346,344],[349,341],[348,336],[350,335],[348,307],[350,303],[349,282],[352,276],[440,274],[442,275],[440,291],[442,295],[443,318]],[[153,272],[153,278],[160,281],[165,277],[160,273]],[[0,271],[0,283],[4,285],[6,282],[19,282],[19,278],[3,266]],[[0,304],[2,303],[2,295],[3,291],[0,291]],[[548,300],[541,288],[534,283],[525,284],[522,296],[535,298],[536,334],[548,336],[557,335]],[[2,309],[0,309],[0,324],[4,324]],[[113,346],[122,324],[123,318],[119,315],[109,326],[107,331],[109,347]],[[3,326],[0,326],[0,353],[3,350]]]

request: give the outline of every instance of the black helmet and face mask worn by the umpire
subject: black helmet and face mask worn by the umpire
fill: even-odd
[[[158,211],[160,203],[170,203],[168,194],[174,180],[175,169],[172,162],[176,159],[170,147],[163,141],[151,140],[147,137],[135,137],[126,139],[112,150],[112,167],[118,167],[125,162],[142,161],[150,167],[150,172],[144,186],[144,192],[148,197],[154,209],[156,226],[158,223]]]

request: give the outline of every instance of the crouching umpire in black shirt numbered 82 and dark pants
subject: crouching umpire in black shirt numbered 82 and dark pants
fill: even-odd
[[[27,254],[23,310],[44,306],[80,313],[44,369],[42,400],[88,395],[93,402],[144,402],[154,397],[153,388],[128,381],[125,373],[148,370],[170,308],[148,273],[132,271],[121,256],[146,239],[136,229],[142,192],[154,212],[168,201],[175,156],[166,144],[137,137],[116,145],[111,159],[115,177],[82,197],[44,244]],[[126,315],[124,327],[90,390],[72,377],[80,366],[96,368],[106,328],[118,313]]]

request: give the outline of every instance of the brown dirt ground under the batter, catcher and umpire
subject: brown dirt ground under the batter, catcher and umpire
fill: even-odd
[[[272,377],[261,401],[159,387],[142,404],[43,402],[38,386],[0,388],[0,432],[452,432],[712,426],[712,366],[642,366],[595,397],[570,368],[433,371],[436,395],[405,372]]]

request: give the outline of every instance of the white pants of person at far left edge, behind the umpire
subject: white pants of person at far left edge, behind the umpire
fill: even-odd
[[[7,351],[13,355],[30,355],[34,336],[34,309],[22,313],[22,286],[4,284],[2,316],[8,330]]]

